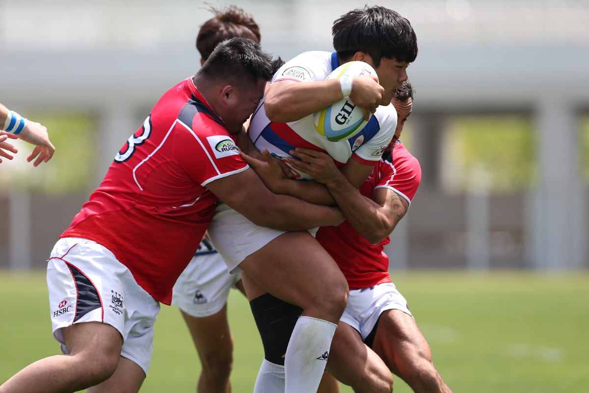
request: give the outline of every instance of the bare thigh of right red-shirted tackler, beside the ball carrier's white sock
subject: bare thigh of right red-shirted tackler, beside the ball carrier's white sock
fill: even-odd
[[[393,379],[382,359],[348,325],[337,325],[326,370],[356,392],[390,392]]]

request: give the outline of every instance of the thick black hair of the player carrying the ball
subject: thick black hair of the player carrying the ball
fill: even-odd
[[[368,54],[375,67],[382,58],[412,62],[417,57],[417,36],[411,23],[382,6],[366,5],[340,16],[333,22],[332,35],[341,61],[356,52]]]

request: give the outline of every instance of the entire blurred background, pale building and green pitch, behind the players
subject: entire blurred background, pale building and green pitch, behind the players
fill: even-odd
[[[332,51],[332,22],[365,2],[233,4],[253,14],[264,49],[289,60]],[[589,1],[375,4],[418,37],[401,140],[422,184],[385,250],[442,377],[455,391],[587,391]],[[58,351],[42,277],[52,246],[158,98],[198,70],[194,42],[210,17],[190,0],[0,0],[0,103],[47,126],[57,148],[36,169],[27,144],[0,164],[0,295],[19,299],[0,306],[19,315],[0,323],[12,338],[0,342],[0,382]],[[234,391],[251,391],[261,345],[232,296]],[[163,308],[156,330],[142,391],[186,375],[192,389],[180,314]]]

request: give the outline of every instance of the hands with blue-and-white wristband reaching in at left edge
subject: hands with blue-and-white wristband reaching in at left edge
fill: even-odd
[[[47,162],[53,157],[55,147],[49,141],[47,128],[39,123],[27,120],[14,111],[9,111],[4,105],[0,104],[0,157],[12,160],[14,156],[10,153],[18,153],[15,146],[8,143],[7,139],[21,139],[25,142],[35,145],[32,153],[27,157],[30,163],[37,157],[33,166],[38,166],[41,162]],[[0,158],[0,163],[2,158]]]

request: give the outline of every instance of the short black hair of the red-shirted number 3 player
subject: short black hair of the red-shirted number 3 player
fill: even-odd
[[[260,44],[249,38],[231,38],[221,42],[197,72],[209,81],[227,81],[238,87],[250,88],[260,79],[269,81],[284,64],[279,57],[264,52]]]

